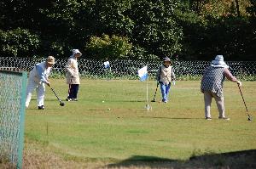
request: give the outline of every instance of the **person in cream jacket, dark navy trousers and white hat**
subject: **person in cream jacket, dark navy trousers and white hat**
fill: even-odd
[[[67,101],[78,101],[80,84],[78,58],[81,57],[81,55],[79,49],[73,49],[73,54],[67,59],[65,66],[67,70],[67,84],[69,85]]]

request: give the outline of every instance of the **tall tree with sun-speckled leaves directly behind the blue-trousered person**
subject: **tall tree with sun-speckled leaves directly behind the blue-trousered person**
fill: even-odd
[[[133,42],[143,47],[148,54],[163,58],[172,57],[181,51],[182,27],[174,20],[174,0],[141,0],[131,6],[131,20],[135,22],[132,31]]]

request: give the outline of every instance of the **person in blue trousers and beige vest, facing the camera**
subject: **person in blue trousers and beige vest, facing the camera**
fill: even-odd
[[[171,59],[168,57],[164,58],[163,64],[157,71],[156,79],[160,83],[160,89],[162,94],[162,102],[168,102],[168,95],[171,89],[171,82],[175,84],[175,74],[172,68]]]

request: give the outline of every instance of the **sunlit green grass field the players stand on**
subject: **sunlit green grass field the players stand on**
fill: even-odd
[[[52,86],[65,100],[65,80],[52,80]],[[156,82],[148,82],[149,101],[155,87]],[[255,88],[256,82],[241,87],[254,116]],[[177,82],[170,102],[150,102],[149,111],[144,108],[146,82],[83,79],[79,101],[65,101],[64,107],[48,87],[46,110],[37,110],[36,93],[26,110],[24,167],[256,167],[256,123],[247,121],[236,83],[224,83],[224,97],[230,121],[218,120],[214,100],[213,119],[206,121],[200,82]]]

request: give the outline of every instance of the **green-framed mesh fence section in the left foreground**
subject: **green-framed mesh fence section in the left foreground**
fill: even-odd
[[[26,72],[0,70],[0,158],[22,168]]]

